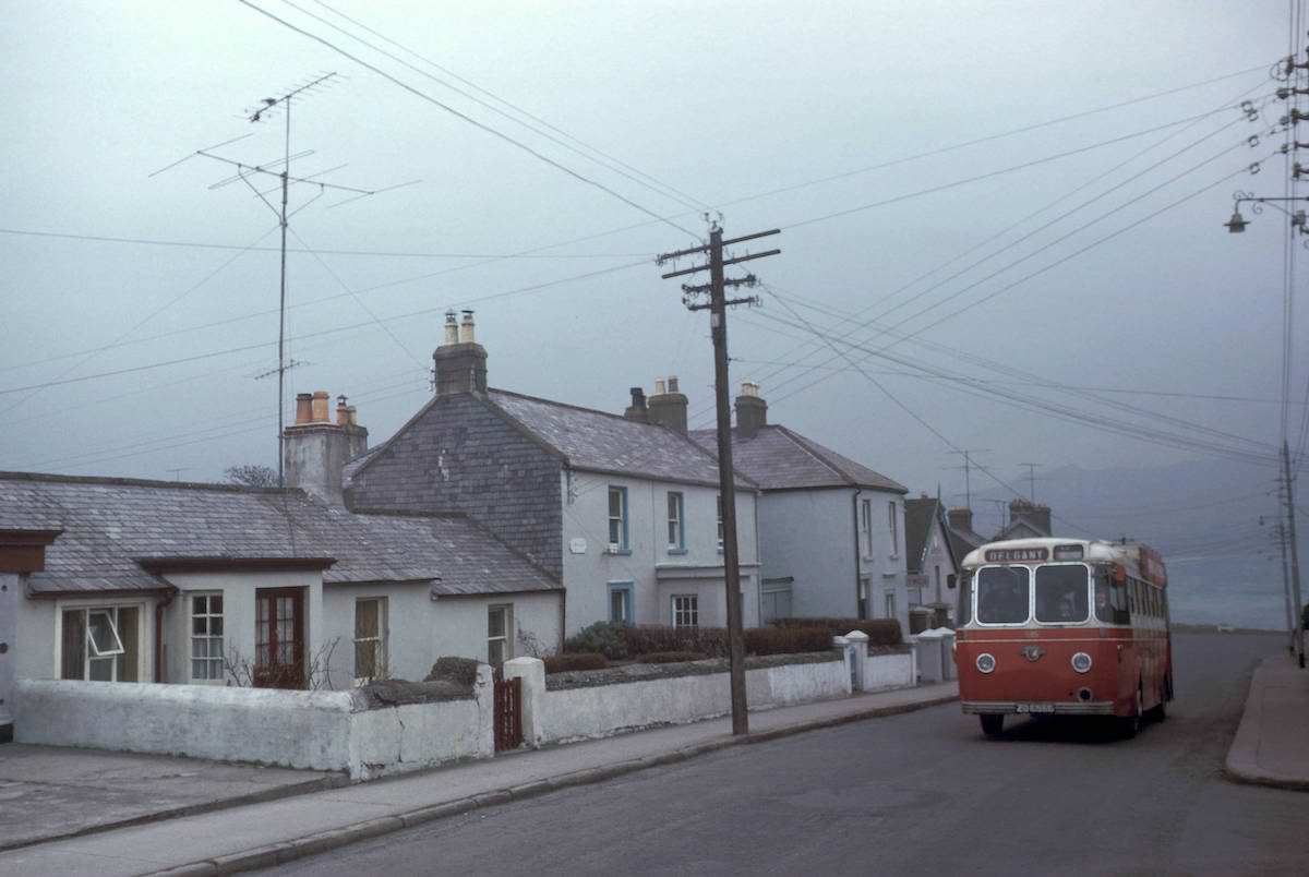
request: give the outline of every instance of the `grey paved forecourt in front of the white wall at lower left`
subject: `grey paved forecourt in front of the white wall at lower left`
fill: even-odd
[[[0,851],[315,792],[336,774],[59,746],[0,746]]]

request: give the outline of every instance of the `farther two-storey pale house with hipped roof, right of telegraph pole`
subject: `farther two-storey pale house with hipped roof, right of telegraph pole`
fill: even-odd
[[[767,420],[759,386],[736,399],[732,463],[759,491],[762,615],[897,618],[908,630],[905,495],[863,463]],[[712,429],[692,437],[715,449]]]

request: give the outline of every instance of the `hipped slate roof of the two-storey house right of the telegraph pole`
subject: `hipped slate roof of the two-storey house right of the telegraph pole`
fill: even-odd
[[[713,429],[691,431],[691,438],[711,454],[717,452],[716,435]],[[761,427],[750,438],[742,438],[733,429],[732,465],[766,491],[867,487],[908,492],[907,487],[886,475],[778,424]]]

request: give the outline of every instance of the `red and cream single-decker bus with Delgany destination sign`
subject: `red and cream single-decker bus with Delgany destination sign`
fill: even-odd
[[[1123,737],[1173,699],[1168,571],[1135,542],[1012,539],[959,576],[963,712],[997,737],[1005,716],[1113,716]]]

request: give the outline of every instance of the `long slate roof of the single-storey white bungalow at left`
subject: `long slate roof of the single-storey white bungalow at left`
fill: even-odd
[[[436,596],[558,582],[465,517],[351,513],[300,490],[0,473],[0,529],[62,529],[29,593],[168,589],[151,560],[319,560],[323,582],[428,581]],[[166,567],[166,564],[164,564]]]

